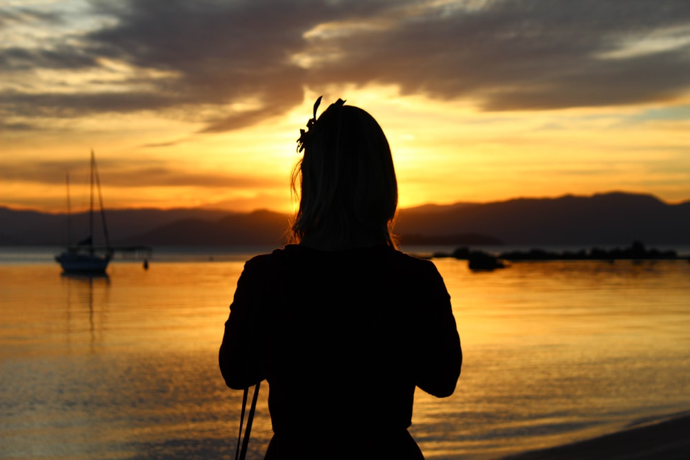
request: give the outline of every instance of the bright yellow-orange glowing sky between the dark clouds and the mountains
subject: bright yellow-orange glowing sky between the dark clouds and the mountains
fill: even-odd
[[[393,151],[401,208],[613,188],[644,191],[645,184],[669,201],[688,196],[690,158],[683,129],[688,122],[645,119],[651,107],[623,114],[603,108],[497,114],[452,101],[400,96],[394,86],[332,87],[323,94],[319,113],[342,97],[379,121]],[[299,159],[295,141],[319,95],[308,92],[302,105],[284,117],[220,134],[190,133],[195,122],[155,114],[78,119],[72,134],[65,122],[63,131],[53,126],[53,134],[46,132],[40,139],[20,137],[6,149],[7,158],[16,155],[16,167],[26,161],[30,146],[33,161],[68,159],[72,168],[79,161],[86,168],[93,147],[106,203],[117,208],[290,212],[295,206],[290,171]],[[101,130],[104,123],[108,130]],[[77,135],[77,126],[82,134]],[[90,132],[88,139],[83,132]],[[11,166],[12,160],[7,161]],[[28,173],[6,177],[4,199],[21,208],[55,211],[57,203],[63,203],[69,165],[60,170],[56,164],[52,179],[45,174],[31,179]],[[37,190],[40,198],[28,198]]]

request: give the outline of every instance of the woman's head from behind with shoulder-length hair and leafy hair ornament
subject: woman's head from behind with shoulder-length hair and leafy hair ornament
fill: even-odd
[[[370,114],[343,104],[339,100],[310,120],[298,141],[304,157],[293,170],[293,190],[298,181],[300,186],[293,240],[394,246],[390,226],[397,180],[391,148]]]

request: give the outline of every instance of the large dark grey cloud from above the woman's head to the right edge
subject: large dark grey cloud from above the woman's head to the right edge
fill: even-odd
[[[690,4],[683,1],[493,1],[428,8],[388,28],[317,35],[338,50],[316,59],[310,84],[395,84],[404,94],[469,99],[483,110],[608,106],[690,90]],[[375,21],[376,19],[373,19]],[[646,41],[667,47],[644,53]],[[677,46],[673,46],[677,43]],[[637,54],[625,55],[637,45]],[[618,51],[619,57],[606,57]],[[615,54],[614,54],[615,56]]]

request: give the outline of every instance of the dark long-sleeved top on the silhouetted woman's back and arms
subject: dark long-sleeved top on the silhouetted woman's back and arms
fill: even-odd
[[[363,446],[423,458],[406,432],[415,387],[452,394],[462,352],[431,261],[387,246],[287,246],[246,263],[219,361],[230,388],[268,381],[267,459],[297,448],[294,458],[366,458]]]

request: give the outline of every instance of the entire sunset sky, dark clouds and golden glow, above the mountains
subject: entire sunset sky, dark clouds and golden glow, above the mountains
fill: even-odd
[[[690,199],[687,0],[0,1],[0,206],[290,210],[342,97],[400,206],[611,190]]]

